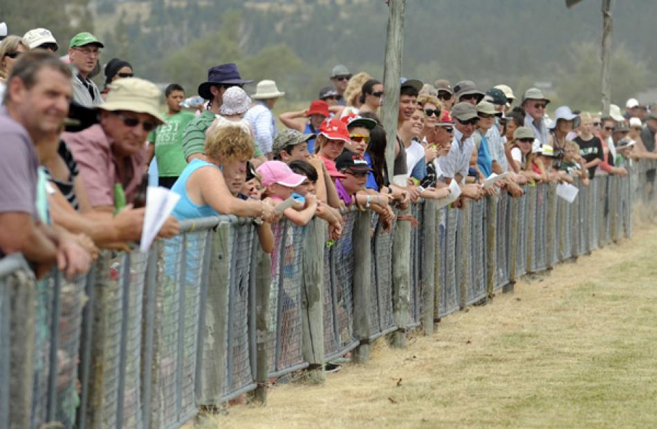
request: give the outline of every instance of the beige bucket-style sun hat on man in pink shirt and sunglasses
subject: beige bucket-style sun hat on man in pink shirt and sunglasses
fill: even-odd
[[[156,84],[139,77],[117,79],[107,86],[109,92],[105,102],[96,106],[104,111],[129,111],[151,115],[159,124],[160,90]]]

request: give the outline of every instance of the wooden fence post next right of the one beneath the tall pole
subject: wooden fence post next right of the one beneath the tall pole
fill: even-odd
[[[420,278],[422,279],[422,300],[424,305],[423,313],[420,314],[420,321],[422,321],[425,335],[431,335],[434,333],[434,298],[436,296],[434,262],[436,260],[436,247],[440,243],[440,233],[436,228],[436,200],[425,200],[423,210],[424,227],[422,231],[424,236],[420,237],[420,240],[423,240],[423,247],[420,251],[422,252],[424,264]]]

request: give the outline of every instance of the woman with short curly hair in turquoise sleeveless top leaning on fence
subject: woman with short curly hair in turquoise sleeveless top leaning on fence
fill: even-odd
[[[253,157],[253,137],[238,126],[219,127],[205,140],[205,158],[187,164],[172,191],[181,199],[174,216],[178,220],[234,214],[275,222],[279,216],[270,200],[240,200],[226,186],[222,169],[244,170]]]

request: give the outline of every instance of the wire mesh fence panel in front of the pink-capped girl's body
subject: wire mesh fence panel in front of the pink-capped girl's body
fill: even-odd
[[[302,356],[302,253],[305,227],[284,220],[277,224],[270,288],[270,375],[304,365]]]

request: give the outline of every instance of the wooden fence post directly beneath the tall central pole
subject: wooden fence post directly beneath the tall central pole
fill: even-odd
[[[399,215],[408,215],[411,208],[399,211]],[[395,229],[395,238],[392,245],[392,302],[393,319],[397,325],[396,332],[392,334],[393,347],[406,347],[406,330],[409,316],[409,293],[411,271],[411,222],[398,221]]]

